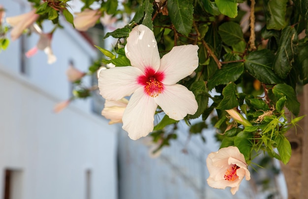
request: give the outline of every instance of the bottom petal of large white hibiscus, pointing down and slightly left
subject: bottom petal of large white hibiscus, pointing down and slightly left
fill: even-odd
[[[130,139],[137,140],[153,131],[156,109],[154,98],[146,95],[143,87],[132,94],[122,119],[122,128],[128,132]]]

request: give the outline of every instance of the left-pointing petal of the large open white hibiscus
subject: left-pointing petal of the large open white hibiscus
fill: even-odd
[[[140,75],[142,75],[141,70],[132,66],[101,70],[98,78],[99,94],[107,100],[119,100],[131,95],[141,87],[136,81]]]

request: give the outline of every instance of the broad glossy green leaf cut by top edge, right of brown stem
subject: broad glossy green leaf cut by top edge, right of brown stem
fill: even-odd
[[[288,0],[264,0],[266,28],[282,29],[286,25],[285,14]]]

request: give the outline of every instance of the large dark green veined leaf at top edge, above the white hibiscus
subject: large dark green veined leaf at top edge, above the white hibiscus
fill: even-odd
[[[193,5],[190,0],[168,0],[168,12],[174,27],[188,35],[192,26]]]

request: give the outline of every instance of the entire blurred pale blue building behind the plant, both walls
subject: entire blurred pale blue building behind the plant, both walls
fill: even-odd
[[[0,4],[7,10],[6,16],[31,9],[27,0],[0,0]],[[120,124],[108,125],[99,116],[103,99],[98,92],[92,98],[71,102],[60,114],[53,113],[57,103],[71,97],[72,85],[65,75],[68,65],[87,71],[97,58],[97,51],[83,35],[64,20],[62,25],[53,36],[54,64],[47,63],[44,52],[25,57],[38,40],[35,34],[22,36],[0,53],[0,198],[264,197],[255,195],[253,185],[246,181],[235,196],[228,188],[217,190],[207,185],[206,157],[219,148],[214,130],[203,132],[204,144],[198,136],[190,138],[186,124],[180,123],[178,139],[152,158],[147,138],[132,141]],[[89,31],[98,46],[103,45],[101,31]],[[84,84],[91,86],[95,81],[89,76]]]

